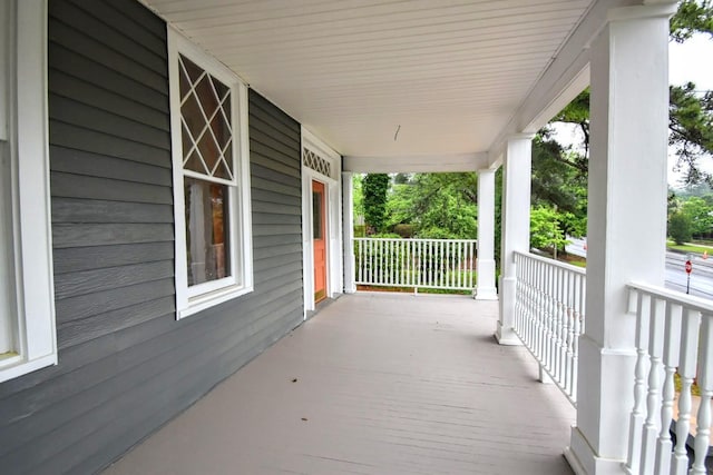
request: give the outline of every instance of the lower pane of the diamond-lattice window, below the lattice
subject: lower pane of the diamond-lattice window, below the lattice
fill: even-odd
[[[188,286],[231,274],[228,187],[185,178]]]

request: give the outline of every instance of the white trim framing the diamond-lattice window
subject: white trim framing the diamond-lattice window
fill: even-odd
[[[231,277],[188,287],[184,172],[182,152],[180,97],[178,91],[178,53],[191,59],[216,79],[228,86],[231,112],[235,137],[233,152],[237,186],[231,187],[228,234],[231,249]],[[225,65],[217,61],[195,43],[168,26],[168,76],[170,85],[170,130],[173,150],[173,187],[176,253],[176,318],[197,314],[206,308],[231,300],[254,290],[253,240],[251,216],[250,141],[247,128],[247,86]],[[233,208],[240,204],[237,209]],[[240,277],[236,279],[236,277]]]

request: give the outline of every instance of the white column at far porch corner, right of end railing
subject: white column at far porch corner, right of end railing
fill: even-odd
[[[495,288],[495,170],[478,170],[478,287],[476,300],[497,300]]]

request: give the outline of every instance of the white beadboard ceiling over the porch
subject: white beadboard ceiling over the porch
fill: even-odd
[[[144,1],[358,157],[487,151],[592,3]]]

